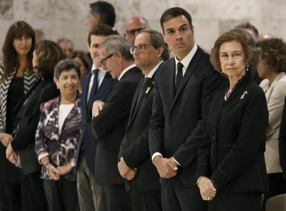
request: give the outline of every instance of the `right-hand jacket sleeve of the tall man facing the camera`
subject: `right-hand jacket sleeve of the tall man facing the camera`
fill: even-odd
[[[201,145],[201,140],[203,139],[207,126],[207,117],[210,111],[211,100],[219,90],[226,86],[226,78],[220,75],[211,66],[202,82],[201,120],[197,122],[197,127],[192,131],[191,136],[188,137],[186,142],[173,154],[175,160],[182,168],[187,167],[198,156],[198,148]]]

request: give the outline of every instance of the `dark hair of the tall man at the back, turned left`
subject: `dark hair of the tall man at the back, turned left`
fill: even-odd
[[[114,26],[115,23],[115,10],[114,7],[108,3],[103,1],[98,1],[90,4],[90,8],[92,10],[92,15],[95,17],[97,15],[100,16],[101,21],[109,25],[111,27]]]

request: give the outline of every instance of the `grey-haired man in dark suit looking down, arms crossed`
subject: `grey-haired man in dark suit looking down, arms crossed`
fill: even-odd
[[[118,35],[108,36],[99,46],[101,64],[112,78],[118,80],[106,103],[95,102],[92,133],[99,139],[95,156],[95,177],[104,186],[108,210],[132,210],[130,191],[125,191],[124,179],[117,168],[120,144],[125,134],[131,102],[143,77],[130,54],[130,43]],[[127,177],[133,178],[135,169]]]

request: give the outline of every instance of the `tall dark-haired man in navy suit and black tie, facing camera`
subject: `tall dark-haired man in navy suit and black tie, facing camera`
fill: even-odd
[[[165,211],[207,210],[196,187],[197,150],[211,100],[227,80],[194,43],[187,11],[170,8],[160,24],[165,42],[175,53],[157,70],[150,118],[149,148],[161,177],[163,207]]]

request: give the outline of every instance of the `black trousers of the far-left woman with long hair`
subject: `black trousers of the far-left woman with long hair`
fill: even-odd
[[[21,184],[0,181],[0,210],[21,210]]]

